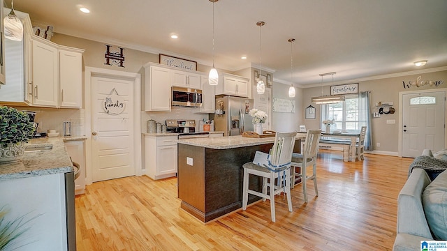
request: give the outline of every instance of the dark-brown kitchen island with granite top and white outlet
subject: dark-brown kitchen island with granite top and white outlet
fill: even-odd
[[[252,161],[256,151],[268,153],[273,142],[274,137],[179,139],[181,208],[205,223],[242,208],[242,165]],[[300,139],[297,138],[295,146],[299,152]],[[261,187],[261,178],[250,178],[250,189],[261,191]],[[249,195],[249,204],[259,199]]]

